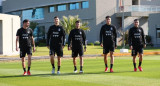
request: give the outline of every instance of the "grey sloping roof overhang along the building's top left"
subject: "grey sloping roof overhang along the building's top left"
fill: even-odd
[[[4,12],[12,12],[30,8],[45,7],[64,3],[73,3],[87,0],[6,0],[2,2]],[[18,3],[13,3],[18,2]],[[24,4],[21,4],[24,3]],[[8,9],[9,8],[9,9]]]

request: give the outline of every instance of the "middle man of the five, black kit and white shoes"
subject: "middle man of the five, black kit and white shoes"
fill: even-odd
[[[83,73],[83,52],[86,51],[86,35],[82,29],[80,29],[80,21],[76,21],[76,28],[71,30],[68,38],[68,50],[72,49],[72,57],[74,64],[74,73],[77,73],[76,57],[80,58],[80,72]],[[84,45],[84,50],[83,50]]]

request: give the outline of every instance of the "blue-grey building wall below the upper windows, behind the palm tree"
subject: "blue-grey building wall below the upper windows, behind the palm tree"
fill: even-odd
[[[90,42],[95,41],[95,21],[96,21],[96,3],[95,0],[86,0],[89,1],[89,8],[85,9],[77,9],[77,10],[66,10],[66,11],[56,11],[53,13],[48,12],[48,6],[44,7],[44,19],[40,21],[36,21],[39,23],[39,26],[45,26],[45,31],[47,32],[49,27],[53,25],[53,18],[54,16],[58,16],[60,19],[62,19],[63,16],[76,16],[79,15],[79,18],[82,19],[83,21],[89,22],[89,27],[91,30],[89,32],[86,32],[87,34],[87,40]],[[67,7],[69,8],[69,7]]]

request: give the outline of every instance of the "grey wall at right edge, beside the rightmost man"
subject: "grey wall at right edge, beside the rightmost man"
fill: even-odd
[[[156,38],[156,28],[160,28],[160,13],[150,14],[149,23],[149,35],[152,37],[152,43],[155,47],[160,47],[160,38]]]

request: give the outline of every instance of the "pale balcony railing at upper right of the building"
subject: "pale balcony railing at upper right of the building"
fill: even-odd
[[[130,5],[130,6],[121,6],[117,12],[160,12],[160,6],[153,5]]]

